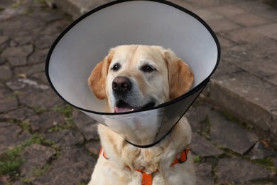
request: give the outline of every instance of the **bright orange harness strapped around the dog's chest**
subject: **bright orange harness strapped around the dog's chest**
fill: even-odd
[[[99,156],[102,153],[102,151],[103,151],[103,149],[101,148],[100,152],[99,152]],[[170,167],[174,166],[175,164],[181,164],[181,163],[185,162],[188,159],[187,155],[188,155],[189,151],[190,151],[190,149],[188,149],[188,148],[183,150],[183,152],[180,153],[180,159],[178,159],[178,157],[176,157],[174,162],[170,165]],[[103,157],[105,159],[109,159],[107,157],[107,154],[105,152],[103,152]],[[131,169],[130,166],[126,166],[126,168]],[[144,172],[141,169],[135,169],[135,171],[138,171],[138,172],[140,172],[142,174],[142,180],[141,180],[141,184],[142,185],[151,185],[152,184],[152,180],[153,180],[153,178],[152,178],[153,175],[152,174],[157,172],[158,169],[156,171],[154,171],[152,174],[146,174],[146,172]]]

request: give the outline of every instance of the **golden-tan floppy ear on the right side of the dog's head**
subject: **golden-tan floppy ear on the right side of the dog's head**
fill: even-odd
[[[166,50],[164,58],[168,64],[170,100],[173,100],[190,90],[194,82],[194,76],[188,65],[175,56],[173,51]]]

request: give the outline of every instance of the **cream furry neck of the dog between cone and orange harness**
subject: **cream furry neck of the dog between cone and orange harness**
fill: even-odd
[[[114,167],[130,166],[131,169],[143,169],[146,173],[152,173],[169,167],[176,155],[188,147],[191,129],[183,117],[161,142],[148,148],[134,147],[104,125],[99,125],[99,135],[102,147]]]

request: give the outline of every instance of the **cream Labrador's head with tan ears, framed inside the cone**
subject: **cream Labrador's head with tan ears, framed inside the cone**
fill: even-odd
[[[98,63],[88,79],[109,111],[128,112],[155,107],[186,93],[193,74],[186,63],[160,46],[117,46]]]

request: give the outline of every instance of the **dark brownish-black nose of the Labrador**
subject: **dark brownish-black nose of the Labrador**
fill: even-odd
[[[131,81],[124,76],[118,76],[112,81],[112,89],[116,93],[124,93],[131,89]]]

